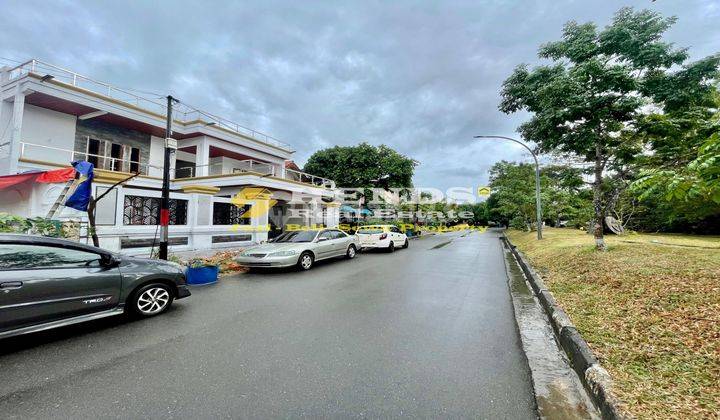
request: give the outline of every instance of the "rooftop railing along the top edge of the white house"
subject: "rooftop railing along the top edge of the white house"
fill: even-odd
[[[38,76],[50,75],[53,79],[57,79],[60,82],[67,83],[69,85],[79,87],[82,89],[89,90],[100,95],[113,98],[125,102],[130,105],[134,105],[138,108],[154,112],[156,114],[165,115],[167,113],[167,104],[161,100],[148,98],[139,94],[140,91],[134,89],[120,88],[113,86],[109,83],[100,82],[81,74],[75,73],[71,70],[58,67],[54,64],[46,63],[40,60],[30,60],[22,63],[9,70],[10,80],[18,79],[30,73],[34,73]],[[189,109],[186,112],[182,110],[176,110],[173,115],[174,119],[182,121],[186,124],[191,121],[200,120],[207,126],[222,127],[244,137],[250,137],[262,143],[266,143],[272,146],[279,147],[288,151],[292,151],[292,147],[272,136],[265,133],[261,133],[252,128],[245,127],[234,121],[228,120],[227,118],[213,115],[209,112],[205,112],[198,109]]]

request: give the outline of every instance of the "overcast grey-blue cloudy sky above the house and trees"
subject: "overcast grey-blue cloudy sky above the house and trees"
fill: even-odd
[[[232,3],[226,4],[226,3]],[[415,184],[484,184],[526,115],[497,110],[502,81],[568,20],[622,6],[679,18],[668,39],[720,51],[720,0],[0,2],[0,64],[38,58],[121,87],[168,93],[290,143],[387,144]]]

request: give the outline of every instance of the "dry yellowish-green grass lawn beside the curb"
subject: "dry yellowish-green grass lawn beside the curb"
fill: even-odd
[[[509,231],[638,418],[720,417],[720,237]]]

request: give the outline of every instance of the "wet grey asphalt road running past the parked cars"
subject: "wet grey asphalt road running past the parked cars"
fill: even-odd
[[[194,288],[0,341],[2,418],[535,418],[491,232]]]

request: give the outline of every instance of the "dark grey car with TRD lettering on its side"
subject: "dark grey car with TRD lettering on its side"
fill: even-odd
[[[0,338],[124,312],[154,316],[188,296],[179,264],[0,234]]]

